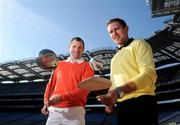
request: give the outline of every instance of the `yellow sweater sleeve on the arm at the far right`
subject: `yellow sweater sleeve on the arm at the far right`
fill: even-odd
[[[154,86],[157,75],[150,45],[145,41],[136,42],[133,53],[136,56],[139,74],[132,81],[138,89]]]

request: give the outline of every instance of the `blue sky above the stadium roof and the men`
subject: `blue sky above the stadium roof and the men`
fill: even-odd
[[[152,18],[146,0],[0,0],[0,63],[35,58],[42,49],[67,54],[75,36],[85,51],[115,47],[106,22],[116,17],[130,37],[148,38],[172,16]]]

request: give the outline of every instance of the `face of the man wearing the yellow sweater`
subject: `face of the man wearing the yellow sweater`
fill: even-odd
[[[124,44],[128,40],[128,27],[124,27],[119,22],[113,22],[107,27],[111,39],[117,45]]]

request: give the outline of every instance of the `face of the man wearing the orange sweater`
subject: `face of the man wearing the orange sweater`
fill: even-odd
[[[81,58],[83,52],[84,52],[84,46],[83,43],[80,41],[73,40],[69,47],[70,50],[70,56],[74,59]]]

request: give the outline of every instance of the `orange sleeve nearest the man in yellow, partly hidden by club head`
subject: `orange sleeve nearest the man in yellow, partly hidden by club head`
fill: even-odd
[[[89,77],[94,76],[94,70],[90,67],[89,63],[85,64],[84,72],[82,73],[82,78],[81,80],[84,80]],[[61,101],[66,101],[66,100],[76,100],[79,98],[83,98],[84,96],[88,95],[88,90],[86,89],[79,89],[76,88],[75,90],[72,90],[70,92],[67,92],[65,94],[61,95]]]

